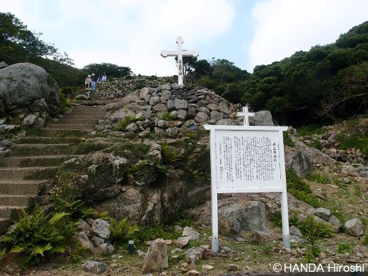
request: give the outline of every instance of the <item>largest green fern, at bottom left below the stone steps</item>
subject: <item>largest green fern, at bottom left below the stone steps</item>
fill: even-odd
[[[64,241],[76,229],[69,214],[45,214],[40,207],[28,214],[21,209],[16,229],[0,242],[11,248],[11,253],[24,255],[23,263],[40,263],[46,255],[64,253]]]

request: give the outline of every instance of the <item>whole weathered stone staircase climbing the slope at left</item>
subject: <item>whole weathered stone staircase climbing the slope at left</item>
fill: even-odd
[[[76,156],[76,146],[104,114],[98,106],[76,106],[58,122],[18,138],[10,154],[0,158],[0,234],[19,209],[37,199],[58,166]]]

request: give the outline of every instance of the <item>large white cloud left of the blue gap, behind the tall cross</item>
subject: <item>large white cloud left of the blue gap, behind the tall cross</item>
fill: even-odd
[[[231,0],[59,0],[49,4],[52,18],[45,15],[47,0],[6,1],[8,11],[42,31],[42,39],[67,52],[77,67],[112,62],[158,76],[176,74],[173,58],[160,52],[175,50],[178,35],[183,49],[197,50],[229,30],[235,16]]]

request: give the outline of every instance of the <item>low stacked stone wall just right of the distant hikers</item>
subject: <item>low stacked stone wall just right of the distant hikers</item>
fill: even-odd
[[[153,76],[130,76],[125,79],[114,79],[102,84],[93,96],[96,98],[120,98],[127,93],[144,86],[158,86],[165,84],[167,78],[156,78]]]

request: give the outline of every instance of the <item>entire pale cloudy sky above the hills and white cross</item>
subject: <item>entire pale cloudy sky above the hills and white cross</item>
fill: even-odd
[[[161,50],[197,50],[253,71],[334,42],[368,20],[367,0],[0,0],[76,67],[111,62],[135,74],[176,74]]]

